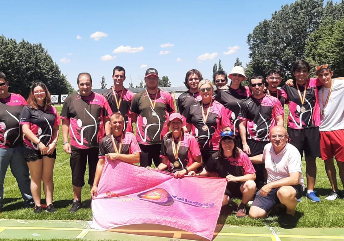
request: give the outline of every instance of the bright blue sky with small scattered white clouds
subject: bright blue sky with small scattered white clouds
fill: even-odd
[[[101,76],[110,87],[116,65],[126,69],[125,86],[149,67],[182,86],[190,69],[211,79],[219,59],[227,72],[236,57],[248,62],[247,35],[291,2],[3,1],[0,34],[42,43],[75,88],[80,72],[92,75],[93,88]]]

